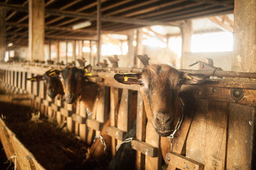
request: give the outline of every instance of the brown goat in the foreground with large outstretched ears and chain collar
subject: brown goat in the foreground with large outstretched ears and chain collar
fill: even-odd
[[[179,72],[169,65],[149,65],[141,73],[116,74],[114,78],[123,84],[140,86],[147,119],[162,136],[161,149],[165,160],[165,154],[170,151],[167,136],[172,134],[181,112],[180,86],[204,82],[205,76]]]

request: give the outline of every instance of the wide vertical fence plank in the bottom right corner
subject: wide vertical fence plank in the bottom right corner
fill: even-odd
[[[226,168],[251,169],[253,167],[253,137],[255,139],[255,107],[229,104],[228,108]]]

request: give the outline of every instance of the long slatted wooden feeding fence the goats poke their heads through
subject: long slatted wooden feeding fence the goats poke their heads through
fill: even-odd
[[[98,77],[92,77],[92,81],[100,85],[100,93],[89,117],[82,102],[74,108],[61,98],[52,100],[45,94],[44,82],[26,81],[27,77],[42,74],[49,67],[0,64],[0,69],[6,88],[15,93],[31,94],[37,109],[58,123],[67,121],[68,130],[88,144],[92,143],[94,135],[99,134],[110,112],[111,127],[107,128],[107,132],[113,139],[113,155],[116,144],[124,140],[125,132],[132,126],[131,111],[132,107],[136,108],[136,139],[131,142],[132,148],[137,151],[136,168],[160,169],[161,137],[150,123],[146,123],[138,86],[119,84],[113,79],[115,72],[98,70]],[[255,166],[252,160],[255,150],[256,82],[219,79],[201,85],[182,86],[183,91],[188,88],[192,91],[181,95],[193,96],[196,109],[191,114],[185,113],[175,136],[173,153],[166,155],[168,169],[251,169]],[[137,93],[137,102],[132,102],[132,92]]]

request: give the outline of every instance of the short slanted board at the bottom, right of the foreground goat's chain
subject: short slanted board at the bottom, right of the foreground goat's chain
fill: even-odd
[[[196,162],[191,158],[184,157],[183,155],[179,155],[178,153],[167,153],[166,157],[167,160],[170,160],[170,164],[179,169],[204,169],[204,164]]]

